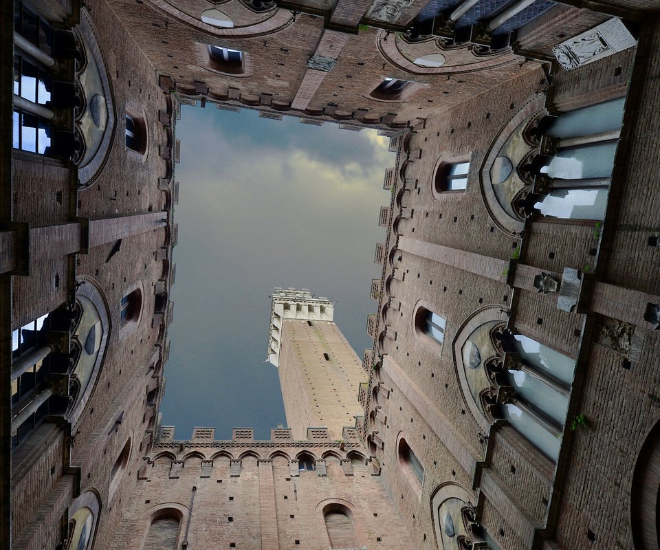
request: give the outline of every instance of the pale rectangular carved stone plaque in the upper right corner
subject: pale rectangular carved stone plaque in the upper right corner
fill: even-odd
[[[610,19],[553,47],[557,61],[567,71],[621,52],[637,43],[621,19]]]

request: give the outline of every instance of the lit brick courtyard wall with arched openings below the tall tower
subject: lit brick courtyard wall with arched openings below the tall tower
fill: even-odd
[[[179,442],[175,441],[157,446],[148,457],[148,477],[137,481],[124,521],[109,546],[111,549],[139,549],[151,513],[159,506],[172,504],[186,509],[179,533],[180,544],[188,522],[193,485],[197,489],[188,531],[190,546],[228,548],[234,542],[236,548],[254,550],[293,549],[298,544],[303,548],[325,550],[329,540],[322,509],[331,502],[351,509],[361,546],[377,544],[399,549],[411,544],[380,477],[372,475],[373,466],[354,463],[351,475],[344,474],[340,460],[346,459],[349,450],[364,452],[359,443],[347,443],[345,450],[331,441],[259,441],[252,446],[241,441],[212,441],[203,446],[195,441],[180,443],[183,451],[179,451]],[[317,459],[325,456],[327,476],[319,476],[314,471],[298,474],[297,464],[294,472],[298,475],[292,476],[289,458],[293,459],[303,450]],[[199,476],[202,456],[213,460],[210,478]],[[229,456],[241,457],[239,476],[229,476]],[[365,459],[361,452],[355,456],[361,456],[362,461]],[[184,459],[177,479],[169,477],[173,457]],[[259,462],[260,459],[269,461]],[[264,503],[265,507],[261,506],[263,498],[269,500]],[[263,525],[269,526],[267,533],[262,531]],[[275,540],[272,539],[274,525],[277,527]]]

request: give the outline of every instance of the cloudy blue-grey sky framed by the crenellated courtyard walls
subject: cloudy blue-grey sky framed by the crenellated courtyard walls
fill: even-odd
[[[264,363],[274,287],[307,288],[336,301],[335,322],[362,358],[375,312],[371,279],[388,137],[257,111],[181,107],[176,166],[179,224],[173,251],[174,318],[161,412],[176,439],[193,426],[286,426],[276,367]],[[357,398],[357,396],[356,396]]]

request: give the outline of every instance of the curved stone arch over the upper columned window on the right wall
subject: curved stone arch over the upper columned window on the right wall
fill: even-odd
[[[483,164],[481,165],[481,170],[479,172],[479,177],[481,180],[481,197],[483,199],[485,208],[491,219],[494,221],[495,225],[500,230],[510,234],[511,236],[520,236],[520,234],[522,234],[525,223],[520,216],[511,211],[512,209],[505,209],[505,207],[503,207],[498,200],[496,191],[493,187],[491,168],[494,166],[497,157],[500,155],[501,149],[505,146],[505,144],[507,144],[507,142],[509,142],[509,138],[514,134],[514,132],[516,132],[516,129],[520,129],[522,124],[526,121],[538,121],[539,113],[544,112],[544,103],[545,96],[542,94],[537,94],[522,104],[522,107],[520,107],[520,109],[518,109],[518,111],[516,111],[516,113],[511,118],[509,118],[508,122],[498,132],[498,135],[495,137],[489,147],[488,153],[484,157]],[[528,153],[529,151],[533,151],[535,149],[538,151],[538,146],[534,148],[531,144],[529,144],[529,142],[527,142],[527,147]],[[516,176],[516,173],[517,171],[514,170],[513,177]],[[521,184],[521,182],[518,183]],[[529,192],[530,189],[531,188],[529,187],[526,190],[522,188],[516,195],[515,200],[517,201],[520,199],[522,197],[520,194]],[[511,198],[514,199],[514,197]]]

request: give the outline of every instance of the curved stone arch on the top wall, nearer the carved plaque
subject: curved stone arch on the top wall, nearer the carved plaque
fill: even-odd
[[[505,65],[519,63],[520,58],[511,53],[511,50],[502,52],[484,51],[483,47],[476,44],[445,45],[445,39],[433,37],[427,40],[415,41],[414,44],[407,43],[404,38],[395,36],[385,40],[388,33],[381,30],[376,38],[377,47],[383,58],[389,63],[408,74],[416,75],[450,75],[465,74],[488,69],[496,69]],[[420,46],[426,47],[425,54],[442,54],[445,63],[439,67],[420,67],[415,65],[401,52],[415,50]],[[463,61],[463,63],[461,63]]]

